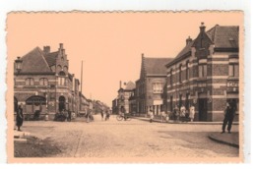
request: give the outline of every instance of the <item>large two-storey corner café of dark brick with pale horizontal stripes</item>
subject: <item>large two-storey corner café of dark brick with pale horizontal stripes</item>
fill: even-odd
[[[186,45],[166,65],[167,111],[174,105],[196,107],[195,120],[222,121],[226,101],[237,105],[238,112],[238,27],[215,26],[197,37],[186,39]]]

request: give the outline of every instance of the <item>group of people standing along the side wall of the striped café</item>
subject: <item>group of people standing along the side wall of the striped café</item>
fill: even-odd
[[[150,116],[150,122],[153,122],[154,119],[154,112],[152,109],[150,109],[149,111],[149,116]],[[189,110],[186,110],[184,105],[180,106],[180,109],[178,108],[178,106],[176,105],[174,108],[173,113],[166,113],[164,111],[164,107],[160,108],[160,117],[161,117],[161,122],[168,122],[169,119],[173,119],[174,121],[194,121],[194,117],[195,117],[195,106],[191,105]]]

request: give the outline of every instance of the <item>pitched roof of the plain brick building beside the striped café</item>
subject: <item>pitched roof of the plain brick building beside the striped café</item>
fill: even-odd
[[[144,68],[146,74],[165,75],[165,65],[173,58],[146,58],[144,57]]]

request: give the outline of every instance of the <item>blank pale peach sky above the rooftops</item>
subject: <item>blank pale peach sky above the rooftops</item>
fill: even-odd
[[[7,17],[8,67],[17,56],[45,45],[51,51],[64,44],[69,72],[81,79],[83,93],[111,106],[119,82],[140,78],[141,55],[175,57],[186,38],[206,29],[243,26],[239,12],[161,13],[10,13]]]

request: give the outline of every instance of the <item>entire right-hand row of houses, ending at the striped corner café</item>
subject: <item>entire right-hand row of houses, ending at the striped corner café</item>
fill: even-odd
[[[196,108],[196,121],[222,121],[226,102],[239,112],[239,27],[219,26],[184,40],[183,49],[173,58],[150,58],[142,54],[140,78],[133,88],[120,86],[112,109],[119,112],[121,96],[130,95],[129,113],[146,114],[152,109],[172,113],[175,106]],[[119,92],[119,91],[124,92]],[[123,101],[127,104],[127,101]],[[114,104],[115,103],[115,104]],[[124,106],[125,107],[125,106]],[[236,120],[237,120],[236,116]]]

